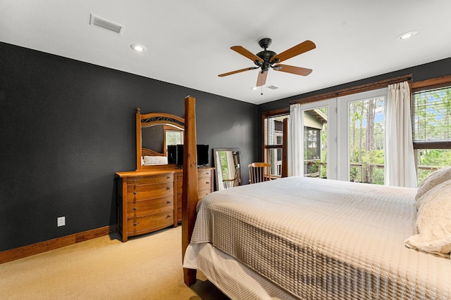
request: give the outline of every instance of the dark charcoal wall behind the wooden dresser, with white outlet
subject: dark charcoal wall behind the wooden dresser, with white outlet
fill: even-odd
[[[9,44],[0,53],[0,251],[116,224],[136,107],[183,116],[193,96],[197,143],[240,148],[243,166],[258,155],[257,105]]]

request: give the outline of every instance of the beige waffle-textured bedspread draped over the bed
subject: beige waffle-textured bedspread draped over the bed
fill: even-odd
[[[202,265],[196,252],[209,244],[297,299],[450,299],[450,259],[404,246],[416,232],[415,194],[304,177],[211,193],[198,204],[185,268]]]

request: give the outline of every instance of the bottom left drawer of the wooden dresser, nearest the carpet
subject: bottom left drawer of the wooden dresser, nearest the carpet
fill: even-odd
[[[129,218],[127,223],[128,235],[150,233],[154,230],[172,226],[174,224],[173,210]]]

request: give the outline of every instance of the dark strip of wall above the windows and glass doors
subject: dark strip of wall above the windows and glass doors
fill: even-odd
[[[310,96],[316,96],[320,95],[322,93],[329,93],[333,91],[338,91],[340,89],[347,89],[352,86],[359,86],[361,84],[370,84],[375,81],[383,80],[383,79],[390,79],[394,77],[399,77],[407,74],[412,74],[413,81],[423,81],[426,79],[432,79],[437,77],[443,77],[447,75],[451,75],[451,58],[445,58],[443,60],[437,60],[432,63],[426,63],[424,65],[417,65],[415,67],[408,67],[407,69],[390,72],[386,74],[381,74],[375,77],[370,77],[358,81],[352,81],[347,84],[341,84],[338,86],[331,86],[327,89],[321,89],[317,91],[312,91],[310,93],[303,93],[297,96],[292,96],[289,98],[283,98],[280,100],[272,101],[269,103],[264,103],[259,105],[259,116],[261,116],[262,112],[267,112],[270,110],[277,110],[280,108],[288,108],[290,107],[290,101],[299,100],[301,98],[307,98]],[[259,131],[259,143],[257,144],[257,153],[258,153],[258,159],[262,159],[262,133],[261,133],[261,119],[258,120],[259,126],[257,127],[257,130]]]

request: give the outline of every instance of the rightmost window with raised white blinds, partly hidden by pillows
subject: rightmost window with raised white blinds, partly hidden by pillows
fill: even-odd
[[[416,90],[413,102],[413,137],[418,184],[428,174],[451,166],[451,82],[447,86]]]

